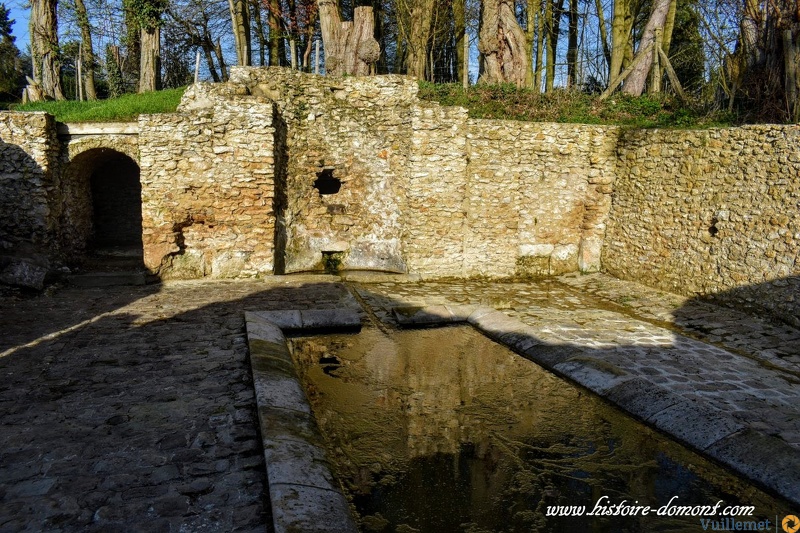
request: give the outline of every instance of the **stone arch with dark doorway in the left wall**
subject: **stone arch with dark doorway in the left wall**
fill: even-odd
[[[62,245],[78,256],[117,248],[141,258],[138,145],[103,141],[81,139],[68,146],[62,174]]]

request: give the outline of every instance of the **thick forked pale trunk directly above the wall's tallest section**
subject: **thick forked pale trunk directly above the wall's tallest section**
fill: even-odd
[[[380,58],[373,36],[372,7],[355,8],[352,22],[342,22],[336,0],[319,0],[319,20],[325,47],[325,72],[332,76],[367,76]],[[425,56],[422,57],[423,69]]]

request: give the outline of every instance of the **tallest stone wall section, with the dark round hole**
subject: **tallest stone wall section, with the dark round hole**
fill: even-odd
[[[400,186],[417,85],[404,76],[332,78],[236,68],[231,83],[275,101],[286,129],[285,271],[405,272]]]

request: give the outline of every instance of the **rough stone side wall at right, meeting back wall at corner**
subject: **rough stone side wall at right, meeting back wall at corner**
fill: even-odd
[[[605,270],[800,325],[800,126],[627,131],[618,146]]]

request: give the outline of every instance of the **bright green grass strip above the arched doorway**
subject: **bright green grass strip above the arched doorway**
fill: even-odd
[[[143,94],[126,94],[119,98],[78,102],[35,102],[13,106],[15,111],[46,111],[59,122],[130,122],[139,115],[173,113],[186,88],[167,89]]]

